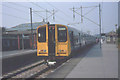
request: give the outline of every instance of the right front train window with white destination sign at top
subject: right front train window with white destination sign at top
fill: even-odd
[[[65,27],[58,27],[58,41],[59,42],[67,41],[67,30]]]

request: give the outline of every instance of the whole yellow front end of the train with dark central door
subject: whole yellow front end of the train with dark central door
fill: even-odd
[[[59,24],[39,26],[37,36],[37,56],[54,61],[70,55],[71,45],[66,26]]]

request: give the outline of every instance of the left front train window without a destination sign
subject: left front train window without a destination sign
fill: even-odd
[[[46,42],[46,27],[41,27],[38,29],[38,41]]]

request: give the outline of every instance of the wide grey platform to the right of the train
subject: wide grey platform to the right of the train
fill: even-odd
[[[103,43],[71,58],[46,78],[118,78],[118,48]]]

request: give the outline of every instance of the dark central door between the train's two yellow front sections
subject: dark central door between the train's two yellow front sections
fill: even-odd
[[[48,55],[55,56],[55,26],[48,26]]]

